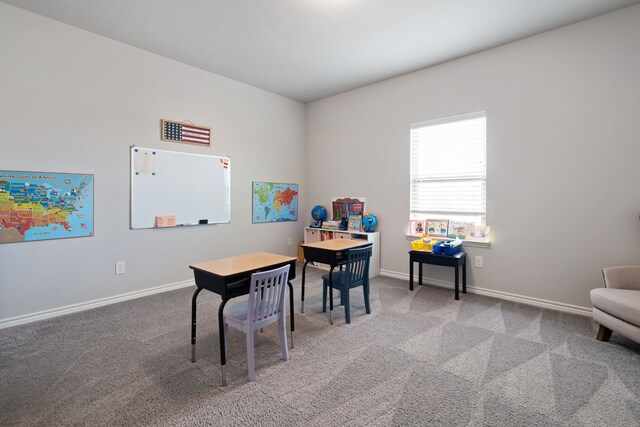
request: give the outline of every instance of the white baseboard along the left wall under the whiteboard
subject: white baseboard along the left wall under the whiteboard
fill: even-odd
[[[77,313],[79,311],[89,310],[96,307],[102,307],[104,305],[115,304],[118,302],[128,301],[131,299],[142,298],[153,294],[159,294],[161,292],[173,291],[175,289],[186,288],[189,286],[195,286],[193,280],[185,280],[183,282],[169,283],[167,285],[156,286],[154,288],[143,289],[141,291],[129,292],[126,294],[115,295],[107,298],[100,298],[93,301],[82,302],[78,304],[67,305],[65,307],[53,308],[50,310],[39,311],[36,313],[25,314],[22,316],[9,317],[7,319],[0,319],[0,329],[9,328],[11,326],[22,325],[25,323],[31,323],[38,320],[50,319],[52,317],[62,316],[65,314]]]

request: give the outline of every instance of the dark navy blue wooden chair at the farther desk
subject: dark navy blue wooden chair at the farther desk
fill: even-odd
[[[369,304],[369,260],[371,259],[371,246],[349,249],[344,270],[332,273],[333,289],[340,291],[340,303],[344,306],[344,317],[347,323],[351,323],[349,311],[349,289],[362,286],[364,293],[364,307],[367,314],[371,314]],[[327,290],[329,289],[329,275],[322,276],[322,312],[327,312]]]

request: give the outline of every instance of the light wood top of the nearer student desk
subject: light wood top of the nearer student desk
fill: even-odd
[[[189,265],[193,270],[202,270],[216,276],[233,276],[249,271],[260,270],[277,264],[295,262],[296,258],[268,252],[253,252],[229,258],[214,259]]]

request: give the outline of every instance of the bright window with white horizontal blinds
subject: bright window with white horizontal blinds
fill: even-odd
[[[485,223],[486,134],[484,112],[411,125],[411,219]]]

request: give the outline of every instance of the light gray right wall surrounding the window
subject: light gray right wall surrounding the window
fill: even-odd
[[[366,195],[381,267],[406,276],[409,125],[485,110],[493,236],[470,283],[590,307],[602,267],[640,261],[639,24],[634,6],[309,104],[307,207]]]

